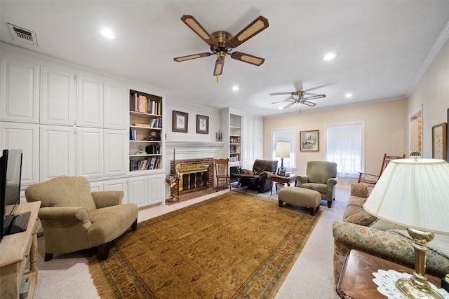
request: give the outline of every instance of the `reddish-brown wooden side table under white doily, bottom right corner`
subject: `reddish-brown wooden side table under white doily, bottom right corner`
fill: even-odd
[[[373,272],[377,272],[379,269],[410,274],[415,271],[389,260],[352,249],[344,260],[342,273],[337,283],[337,294],[340,295],[340,298],[346,299],[385,299],[385,296],[377,291],[377,284],[373,282]],[[441,288],[441,279],[427,274],[426,276],[427,281]]]

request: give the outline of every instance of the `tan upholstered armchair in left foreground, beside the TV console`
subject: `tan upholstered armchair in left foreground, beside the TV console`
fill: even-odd
[[[45,235],[45,260],[98,246],[102,260],[109,242],[128,228],[137,229],[137,204],[121,204],[123,191],[91,192],[83,176],[58,176],[25,190],[27,202],[41,201],[39,219]]]

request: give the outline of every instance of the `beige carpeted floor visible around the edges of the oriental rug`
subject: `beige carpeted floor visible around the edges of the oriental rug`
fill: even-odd
[[[220,193],[225,192],[227,191]],[[270,196],[269,192],[258,194],[244,188],[241,189],[241,192],[266,196],[272,200],[277,199],[276,193]],[[175,209],[187,207],[190,204],[207,200],[210,197],[211,195],[208,195],[171,206],[161,204],[156,207],[142,209],[139,211],[139,221],[145,221]],[[279,288],[275,299],[340,298],[335,292],[333,280],[332,223],[342,219],[348,199],[349,189],[337,186],[336,200],[332,207],[328,209],[326,202],[321,202],[323,214],[311,233],[307,244],[302,249],[300,256],[283,281],[281,288]],[[85,251],[55,255],[53,260],[44,262],[44,242],[44,237],[38,238],[39,277],[34,298],[100,298],[88,272],[88,260],[86,259]]]

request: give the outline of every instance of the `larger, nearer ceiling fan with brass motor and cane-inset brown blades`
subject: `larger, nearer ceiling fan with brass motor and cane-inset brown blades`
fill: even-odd
[[[243,30],[241,30],[241,32],[236,34],[236,36],[232,36],[228,32],[224,31],[218,31],[214,32],[213,34],[208,34],[208,32],[206,32],[206,29],[204,29],[192,15],[183,15],[181,20],[182,22],[185,22],[185,25],[187,25],[196,34],[198,34],[198,36],[210,46],[211,53],[206,52],[175,57],[173,58],[175,62],[183,62],[185,60],[193,60],[196,58],[208,57],[210,55],[216,54],[217,60],[215,61],[213,75],[217,76],[217,81],[218,76],[222,74],[226,55],[230,55],[234,60],[240,60],[257,65],[257,67],[264,63],[264,58],[255,57],[253,55],[241,52],[231,52],[233,48],[240,46],[245,41],[248,41],[248,39],[252,38],[259,32],[262,32],[262,30],[267,29],[268,20],[262,17],[262,15],[253,20],[250,25],[246,26]]]

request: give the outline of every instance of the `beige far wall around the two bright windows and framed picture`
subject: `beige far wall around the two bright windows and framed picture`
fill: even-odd
[[[378,174],[384,153],[402,155],[408,152],[407,101],[401,99],[379,104],[366,104],[331,110],[264,118],[264,159],[272,153],[272,130],[295,127],[297,130],[297,169],[295,174],[305,174],[307,162],[323,160],[325,153],[325,125],[363,120],[365,122],[366,172]],[[301,152],[300,131],[319,130],[319,152]],[[341,181],[348,185],[351,181]],[[340,182],[339,182],[340,184]]]

